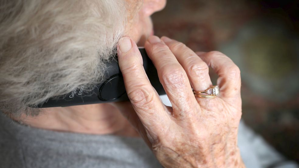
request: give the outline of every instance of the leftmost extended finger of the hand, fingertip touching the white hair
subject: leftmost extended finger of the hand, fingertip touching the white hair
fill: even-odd
[[[123,37],[118,47],[118,63],[128,97],[147,130],[155,127],[155,133],[167,123],[169,115],[155,88],[145,74],[142,57],[136,43],[130,37]],[[159,129],[157,129],[159,128]]]

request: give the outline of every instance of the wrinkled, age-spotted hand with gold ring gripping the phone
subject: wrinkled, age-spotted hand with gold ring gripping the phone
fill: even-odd
[[[130,48],[131,47],[131,48]],[[193,52],[167,37],[150,36],[145,49],[172,107],[151,86],[137,45],[124,37],[119,65],[130,102],[113,103],[137,129],[164,167],[245,167],[237,146],[241,118],[240,70],[220,52]],[[195,97],[212,86],[210,66],[220,94]]]

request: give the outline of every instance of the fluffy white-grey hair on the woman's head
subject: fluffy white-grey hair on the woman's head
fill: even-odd
[[[0,111],[102,80],[126,22],[120,0],[0,0]]]

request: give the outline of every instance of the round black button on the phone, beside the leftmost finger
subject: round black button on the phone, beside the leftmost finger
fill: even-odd
[[[120,98],[126,93],[123,77],[120,74],[107,79],[99,89],[99,99],[102,101],[111,101]]]

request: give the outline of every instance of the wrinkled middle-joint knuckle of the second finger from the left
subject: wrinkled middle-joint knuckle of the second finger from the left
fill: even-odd
[[[175,69],[166,72],[162,78],[167,86],[178,88],[184,87],[184,74],[180,69]]]

